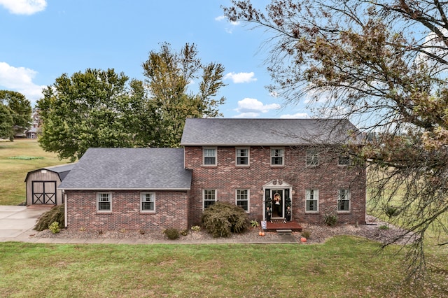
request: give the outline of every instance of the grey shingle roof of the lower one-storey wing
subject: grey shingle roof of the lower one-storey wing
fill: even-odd
[[[65,190],[190,190],[182,148],[90,148],[59,185]]]

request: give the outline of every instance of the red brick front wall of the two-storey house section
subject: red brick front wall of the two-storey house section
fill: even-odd
[[[251,219],[262,219],[262,186],[272,180],[292,185],[293,220],[322,223],[325,210],[337,206],[339,188],[349,188],[351,208],[339,212],[339,222],[365,222],[365,168],[364,166],[338,166],[335,148],[314,148],[319,151],[319,165],[306,166],[307,146],[284,148],[284,166],[270,165],[269,147],[250,148],[250,166],[235,166],[235,147],[217,148],[217,166],[202,166],[202,147],[186,147],[186,169],[193,169],[190,191],[190,225],[200,224],[202,216],[202,190],[216,190],[217,201],[235,204],[235,190],[250,191]],[[305,212],[307,188],[319,190],[318,213]]]

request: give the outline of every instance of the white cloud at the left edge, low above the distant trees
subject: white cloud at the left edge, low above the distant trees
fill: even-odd
[[[43,97],[42,89],[46,87],[33,83],[36,74],[37,72],[32,69],[14,67],[6,62],[0,62],[0,89],[6,88],[7,90],[20,92],[29,101],[34,102]]]

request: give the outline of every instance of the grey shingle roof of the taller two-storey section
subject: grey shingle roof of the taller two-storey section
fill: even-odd
[[[182,146],[297,146],[358,142],[341,119],[187,119]]]

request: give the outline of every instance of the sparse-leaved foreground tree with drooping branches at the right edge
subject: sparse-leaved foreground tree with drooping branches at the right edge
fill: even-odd
[[[316,115],[349,118],[369,136],[351,153],[369,167],[372,211],[396,206],[391,219],[414,234],[409,273],[419,276],[428,229],[448,244],[448,3],[232,4],[223,8],[229,20],[272,34],[270,90],[288,103],[307,99]]]

